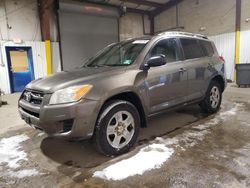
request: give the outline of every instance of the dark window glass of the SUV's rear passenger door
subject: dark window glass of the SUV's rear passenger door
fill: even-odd
[[[203,55],[203,51],[198,41],[195,39],[180,39],[185,59],[200,58]]]

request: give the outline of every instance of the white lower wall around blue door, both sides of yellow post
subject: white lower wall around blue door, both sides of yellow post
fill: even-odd
[[[47,75],[47,63],[45,54],[44,42],[24,42],[22,44],[15,44],[12,41],[0,41],[0,88],[5,93],[10,93],[10,81],[8,73],[8,62],[6,58],[6,46],[18,47],[31,47],[32,57],[34,65],[35,79],[41,78]],[[59,44],[52,43],[52,66],[56,67],[53,72],[60,71],[60,55],[59,55]]]

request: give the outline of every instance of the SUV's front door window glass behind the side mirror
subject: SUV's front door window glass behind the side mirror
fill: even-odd
[[[181,52],[176,39],[163,39],[151,50],[150,57],[165,55],[167,63],[181,60]]]

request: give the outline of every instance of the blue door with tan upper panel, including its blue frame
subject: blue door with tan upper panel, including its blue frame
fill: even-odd
[[[31,47],[6,47],[11,93],[21,92],[34,80]]]

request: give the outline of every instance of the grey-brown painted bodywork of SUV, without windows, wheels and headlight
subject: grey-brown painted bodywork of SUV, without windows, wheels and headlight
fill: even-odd
[[[49,135],[85,139],[94,134],[105,102],[119,94],[129,92],[136,95],[145,119],[164,110],[200,102],[216,76],[220,76],[226,86],[225,65],[219,59],[213,43],[213,57],[185,60],[183,56],[180,61],[167,62],[160,67],[144,67],[150,50],[157,42],[168,38],[178,40],[181,37],[208,41],[200,36],[176,32],[142,38],[149,42],[130,66],[80,67],[75,71],[61,72],[31,82],[20,97],[19,113],[28,124]],[[85,84],[93,87],[80,101],[49,104],[55,91]],[[41,103],[27,102],[25,95],[37,91],[42,93]]]

